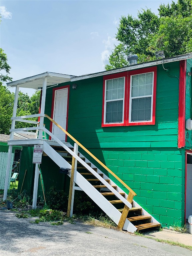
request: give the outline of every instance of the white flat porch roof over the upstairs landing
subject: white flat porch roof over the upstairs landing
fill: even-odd
[[[51,85],[69,82],[71,81],[71,78],[75,76],[45,72],[7,83],[7,86],[15,87],[16,85],[19,85],[19,87],[23,88],[40,89],[43,87],[43,81],[45,77],[47,77],[47,87],[49,87]]]

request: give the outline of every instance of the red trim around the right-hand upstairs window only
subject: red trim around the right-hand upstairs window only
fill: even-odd
[[[150,122],[134,122],[129,123],[129,101],[130,101],[130,87],[131,87],[131,76],[139,75],[144,73],[154,72],[154,81],[153,81],[153,110],[152,110],[152,121]],[[154,125],[155,124],[155,110],[156,110],[156,90],[157,90],[157,67],[143,68],[138,70],[128,71],[128,90],[127,90],[127,118],[126,125]]]

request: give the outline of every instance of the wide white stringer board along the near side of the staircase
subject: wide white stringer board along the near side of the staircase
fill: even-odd
[[[51,146],[48,145],[45,141],[43,143],[43,151],[60,168],[71,168],[71,165],[65,159],[63,159],[62,156],[60,156],[53,148],[51,148]],[[53,153],[53,151],[55,153]],[[74,182],[118,225],[121,213],[77,171],[74,175]],[[131,233],[134,233],[137,230],[136,227],[127,219],[125,221],[123,229]]]

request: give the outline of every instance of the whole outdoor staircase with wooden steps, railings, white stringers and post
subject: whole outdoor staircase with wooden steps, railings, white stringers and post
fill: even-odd
[[[124,181],[52,118],[46,114],[45,117],[74,141],[73,148],[73,146],[61,142],[54,134],[44,128],[44,131],[51,136],[59,146],[51,147],[48,142],[44,141],[43,152],[60,168],[68,168],[71,170],[70,174],[67,174],[70,177],[67,216],[72,216],[73,214],[75,190],[82,190],[117,224],[119,230],[123,229],[134,233],[137,230],[161,227],[161,224],[157,220],[133,200],[136,193]],[[112,175],[129,193],[126,194],[113,180],[78,152],[78,146],[81,147],[91,159],[94,159],[102,166],[106,173]]]

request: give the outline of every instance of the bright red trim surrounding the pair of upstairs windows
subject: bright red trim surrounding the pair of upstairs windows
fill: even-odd
[[[150,122],[134,122],[134,123],[131,122],[130,123],[129,122],[129,102],[130,102],[129,95],[130,95],[130,82],[131,82],[130,76],[143,74],[143,73],[149,73],[149,72],[154,72],[152,121],[150,121]],[[104,124],[105,81],[109,80],[109,79],[119,78],[119,77],[125,77],[124,122],[123,123]],[[156,87],[157,87],[157,67],[156,66],[103,76],[103,104],[102,104],[101,127],[154,125],[155,124],[155,110],[156,110]]]

